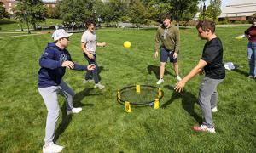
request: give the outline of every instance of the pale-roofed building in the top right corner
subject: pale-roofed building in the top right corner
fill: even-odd
[[[256,13],[256,0],[233,0],[227,5],[218,20],[249,20]]]

